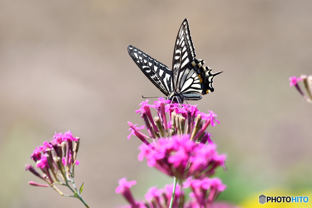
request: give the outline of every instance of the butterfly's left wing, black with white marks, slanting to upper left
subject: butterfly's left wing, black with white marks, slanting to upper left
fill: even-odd
[[[141,71],[163,94],[168,96],[173,91],[172,70],[168,66],[131,45],[128,45],[128,53]]]

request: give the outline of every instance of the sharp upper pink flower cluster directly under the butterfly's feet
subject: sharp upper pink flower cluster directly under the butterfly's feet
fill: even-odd
[[[148,104],[149,100],[140,103],[141,108],[136,110],[136,113],[141,114],[141,118],[144,121],[143,126],[136,127],[138,124],[132,124],[128,122],[131,131],[130,135],[127,137],[130,138],[131,135],[135,135],[140,138],[145,144],[149,144],[146,140],[157,139],[157,138],[169,138],[173,135],[187,135],[190,134],[190,139],[195,142],[202,142],[212,144],[210,140],[211,134],[205,133],[206,128],[211,124],[215,126],[216,123],[220,122],[216,119],[217,114],[212,111],[208,111],[206,114],[200,112],[197,109],[197,105],[190,104],[169,104],[170,100],[164,100],[159,98],[158,101],[154,102],[154,105]],[[157,111],[157,116],[152,116],[151,109],[154,108]],[[167,114],[169,114],[169,121],[167,122]],[[196,119],[195,119],[196,118]],[[202,122],[202,120],[206,120]],[[216,123],[215,123],[216,122]],[[141,133],[139,130],[146,128],[149,136]],[[209,137],[207,137],[209,135]],[[205,141],[202,140],[206,136]]]

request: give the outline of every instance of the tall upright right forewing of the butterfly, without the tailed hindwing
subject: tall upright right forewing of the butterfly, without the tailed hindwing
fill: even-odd
[[[173,51],[173,90],[175,92],[179,92],[182,89],[184,70],[188,68],[188,65],[195,59],[195,56],[188,20],[185,19],[178,32]]]

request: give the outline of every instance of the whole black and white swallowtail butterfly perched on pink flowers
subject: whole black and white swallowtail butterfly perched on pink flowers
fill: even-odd
[[[222,71],[212,73],[204,60],[196,59],[195,49],[185,19],[174,46],[172,70],[138,48],[128,45],[128,53],[149,80],[174,103],[202,99],[200,94],[213,92],[213,78]]]

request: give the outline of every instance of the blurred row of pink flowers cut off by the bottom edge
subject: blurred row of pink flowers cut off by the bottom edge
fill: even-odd
[[[119,186],[115,192],[120,193],[129,202],[129,206],[123,208],[167,208],[170,206],[174,184],[165,185],[164,189],[151,187],[145,194],[146,201],[136,201],[131,193],[130,187],[136,181],[127,181],[126,178],[119,180]],[[183,188],[190,187],[189,199],[185,201]],[[205,180],[193,180],[189,178],[180,186],[176,185],[176,191],[172,201],[172,208],[235,208],[226,203],[213,203],[218,195],[224,191],[226,186],[218,178],[207,178]]]

